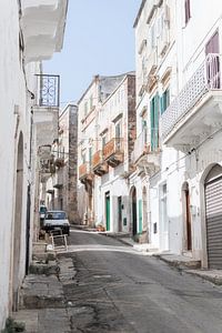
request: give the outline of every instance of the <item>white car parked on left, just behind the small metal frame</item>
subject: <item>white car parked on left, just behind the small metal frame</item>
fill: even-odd
[[[62,233],[70,234],[70,223],[64,211],[48,211],[44,216],[43,229],[46,232],[61,229]]]

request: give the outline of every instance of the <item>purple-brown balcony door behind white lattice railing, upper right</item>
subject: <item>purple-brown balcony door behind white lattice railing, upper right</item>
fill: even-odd
[[[219,53],[219,31],[215,31],[205,46],[206,80],[210,89],[220,89],[221,87]]]

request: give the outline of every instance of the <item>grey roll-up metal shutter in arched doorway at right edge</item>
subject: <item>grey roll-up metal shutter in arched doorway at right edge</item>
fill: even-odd
[[[206,248],[210,269],[222,269],[222,176],[205,183]]]

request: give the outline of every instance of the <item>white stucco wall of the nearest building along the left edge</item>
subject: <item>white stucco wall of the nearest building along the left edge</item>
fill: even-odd
[[[27,186],[30,179],[29,148],[30,148],[30,104],[27,94],[24,74],[19,50],[19,17],[16,1],[0,4],[0,174],[1,174],[1,233],[0,233],[0,329],[12,305],[13,276],[13,238],[14,238],[14,206],[16,206],[16,175],[19,135],[23,135],[23,195],[21,204],[20,258],[18,284],[24,275],[26,264],[26,214]],[[34,87],[36,64],[26,68],[28,87]],[[22,190],[20,189],[21,193]]]

